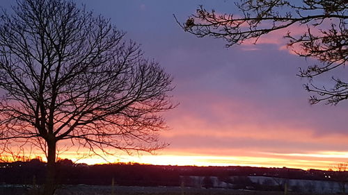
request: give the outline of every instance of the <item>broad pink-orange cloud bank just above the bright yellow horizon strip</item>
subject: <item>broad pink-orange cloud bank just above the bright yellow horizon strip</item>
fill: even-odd
[[[301,121],[293,119],[292,116],[305,116],[306,112],[294,110],[291,103],[280,108],[263,108],[262,105],[242,99],[227,99],[212,94],[197,96],[204,97],[200,103],[204,103],[205,114],[198,114],[191,107],[183,107],[177,110],[180,114],[173,113],[173,116],[167,117],[172,129],[161,133],[161,136],[172,143],[173,150],[228,155],[230,150],[237,147],[241,153],[253,151],[253,154],[248,155],[254,156],[255,153],[267,152],[316,153],[323,149],[335,151],[345,149],[348,142],[347,134],[334,131],[318,134],[317,126],[313,126],[310,121],[305,118]],[[191,96],[191,103],[195,99],[197,98]],[[283,104],[287,104],[287,101],[283,101]],[[278,112],[290,113],[275,117]],[[231,144],[227,144],[227,140]],[[181,145],[184,143],[189,145]]]

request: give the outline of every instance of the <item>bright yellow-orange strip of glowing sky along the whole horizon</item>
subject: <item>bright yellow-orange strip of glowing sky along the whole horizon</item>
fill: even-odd
[[[226,152],[226,151],[224,151]],[[98,156],[81,158],[76,153],[67,152],[59,158],[68,158],[75,163],[108,164],[108,163],[139,163],[173,166],[250,166],[250,167],[288,167],[296,169],[322,169],[327,170],[340,162],[348,162],[348,152],[321,151],[315,153],[241,153],[233,151],[236,155],[209,155],[208,153],[183,153],[168,150],[163,155],[109,155],[104,159]],[[32,158],[45,155],[33,155]],[[6,157],[5,155],[1,156]],[[9,157],[9,156],[8,156]],[[10,158],[8,158],[10,160]]]

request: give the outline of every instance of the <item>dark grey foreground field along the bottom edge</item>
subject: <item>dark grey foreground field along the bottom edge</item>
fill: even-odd
[[[0,195],[35,195],[24,187],[0,187]],[[67,185],[60,187],[56,195],[283,195],[284,192],[260,192],[236,189],[198,189],[181,187],[123,187]],[[289,192],[289,195],[307,195]]]

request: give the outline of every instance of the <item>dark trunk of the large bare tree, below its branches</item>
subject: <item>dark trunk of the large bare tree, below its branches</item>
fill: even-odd
[[[44,195],[53,195],[56,176],[56,141],[47,141],[47,173],[44,186]]]

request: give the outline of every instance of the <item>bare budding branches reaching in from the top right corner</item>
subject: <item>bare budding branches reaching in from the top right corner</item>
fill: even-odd
[[[214,37],[226,40],[226,46],[242,44],[246,40],[258,39],[273,31],[287,30],[284,37],[294,53],[319,60],[318,64],[299,69],[299,76],[309,78],[304,85],[310,96],[310,103],[324,101],[337,104],[348,99],[348,83],[333,77],[331,87],[313,83],[315,76],[345,66],[348,56],[347,0],[241,0],[235,3],[240,15],[221,14],[199,6],[184,24],[185,31],[197,37]],[[175,18],[176,19],[176,18]],[[304,26],[301,31],[298,26]],[[290,29],[291,27],[292,30]],[[295,34],[294,34],[295,33]]]

